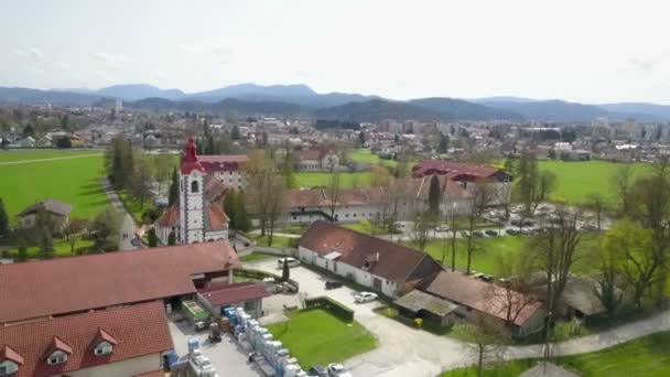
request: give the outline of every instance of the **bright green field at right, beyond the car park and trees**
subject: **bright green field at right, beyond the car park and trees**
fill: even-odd
[[[563,200],[569,203],[584,203],[591,193],[597,192],[614,200],[612,190],[612,176],[622,163],[607,161],[539,161],[541,170],[548,170],[556,174],[559,186],[553,193],[554,200]],[[636,175],[651,171],[648,163],[635,163]]]

